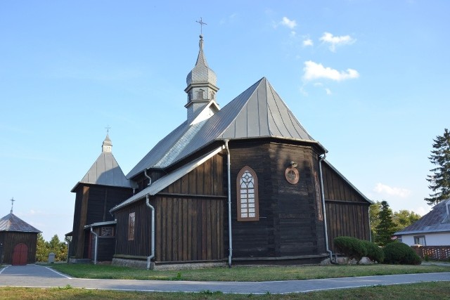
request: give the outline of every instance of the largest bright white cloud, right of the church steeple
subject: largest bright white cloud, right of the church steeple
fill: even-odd
[[[314,63],[311,60],[304,62],[303,71],[303,79],[307,81],[321,78],[342,81],[359,77],[359,73],[356,70],[347,69],[346,71],[339,72],[330,67],[323,67],[321,63]]]

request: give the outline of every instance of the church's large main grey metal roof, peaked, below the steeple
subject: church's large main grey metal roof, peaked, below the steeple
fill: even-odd
[[[168,167],[216,140],[264,137],[307,141],[323,148],[263,77],[210,119],[178,126],[131,169],[127,178],[133,178],[144,169]]]

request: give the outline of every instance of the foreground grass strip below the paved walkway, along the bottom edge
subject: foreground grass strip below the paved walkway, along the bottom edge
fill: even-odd
[[[1,299],[450,299],[449,282],[423,282],[411,285],[360,287],[301,294],[221,294],[118,292],[98,289],[0,287]]]

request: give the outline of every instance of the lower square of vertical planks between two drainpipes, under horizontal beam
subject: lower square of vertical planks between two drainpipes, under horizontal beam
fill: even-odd
[[[224,258],[224,200],[158,197],[156,261]]]

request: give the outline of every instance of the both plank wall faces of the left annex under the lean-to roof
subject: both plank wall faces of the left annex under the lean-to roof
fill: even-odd
[[[224,258],[223,178],[223,155],[218,154],[150,197],[155,207],[155,261]],[[117,255],[150,255],[150,209],[145,201],[116,212]],[[136,213],[134,241],[127,240],[131,212]]]

